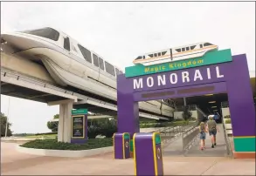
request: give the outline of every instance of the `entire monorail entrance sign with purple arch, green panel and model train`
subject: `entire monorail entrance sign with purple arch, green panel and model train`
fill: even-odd
[[[145,54],[134,64],[117,78],[118,132],[128,132],[130,139],[140,132],[139,101],[226,92],[233,156],[255,158],[255,107],[246,54],[232,56],[231,49],[198,43]]]

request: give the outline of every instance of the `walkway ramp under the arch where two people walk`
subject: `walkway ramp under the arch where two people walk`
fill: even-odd
[[[225,157],[227,155],[226,144],[225,144],[225,133],[222,124],[218,124],[219,132],[217,133],[217,146],[211,148],[211,136],[209,133],[206,134],[205,147],[204,151],[201,151],[200,148],[200,139],[199,137],[195,141],[194,145],[186,152],[186,156],[195,156],[195,157]]]

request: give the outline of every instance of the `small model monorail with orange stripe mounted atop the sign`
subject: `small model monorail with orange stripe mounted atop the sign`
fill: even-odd
[[[163,51],[155,51],[135,58],[134,64],[152,65],[174,62],[188,58],[198,58],[204,56],[208,51],[217,50],[218,46],[207,42],[190,44]]]

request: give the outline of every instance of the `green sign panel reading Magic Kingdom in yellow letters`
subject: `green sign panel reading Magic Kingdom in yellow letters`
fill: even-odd
[[[197,66],[218,64],[232,61],[231,49],[223,51],[209,51],[200,58],[189,58],[164,64],[155,64],[150,66],[144,66],[142,64],[136,64],[125,68],[125,77],[136,77],[142,75],[149,75],[153,73],[159,73],[163,71],[176,71],[181,69],[187,69]]]

